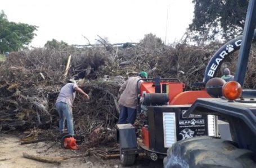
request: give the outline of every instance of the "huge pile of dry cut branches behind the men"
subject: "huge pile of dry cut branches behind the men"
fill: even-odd
[[[110,142],[119,116],[116,96],[129,74],[147,71],[150,78],[177,77],[191,89],[191,83],[203,81],[210,58],[221,46],[164,45],[152,34],[136,45],[102,44],[72,46],[65,51],[34,48],[11,53],[0,67],[0,130],[57,128],[55,101],[65,80],[75,78],[91,97],[85,100],[77,94],[73,104],[75,134],[83,135],[93,145]],[[256,85],[254,50],[255,46],[245,81],[245,87],[250,88]],[[237,52],[225,63],[232,73],[236,61]]]

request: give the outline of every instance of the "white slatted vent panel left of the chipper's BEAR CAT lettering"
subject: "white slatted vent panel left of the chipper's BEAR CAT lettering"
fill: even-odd
[[[164,147],[169,148],[177,141],[175,113],[163,113]]]

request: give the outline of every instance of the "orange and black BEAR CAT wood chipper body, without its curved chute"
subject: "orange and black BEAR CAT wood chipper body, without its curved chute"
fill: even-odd
[[[138,81],[139,83],[140,81]],[[197,83],[200,87],[200,83]],[[204,88],[183,91],[185,84],[178,78],[144,79],[138,90],[137,114],[143,118],[141,135],[131,124],[118,124],[120,160],[132,165],[138,153],[156,161],[163,159],[173,143],[194,136],[218,136],[214,115],[185,116],[197,98],[210,97]]]

